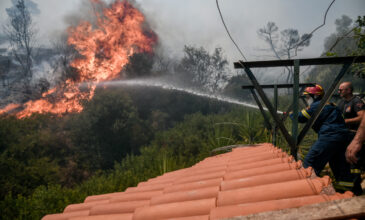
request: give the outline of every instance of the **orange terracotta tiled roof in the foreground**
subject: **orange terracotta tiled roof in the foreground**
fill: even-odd
[[[271,144],[235,148],[43,220],[221,219],[352,197]]]

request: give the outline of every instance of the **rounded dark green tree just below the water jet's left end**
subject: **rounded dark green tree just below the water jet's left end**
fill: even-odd
[[[81,160],[77,163],[94,171],[110,169],[114,161],[138,153],[150,136],[130,98],[120,90],[98,90],[71,126]]]

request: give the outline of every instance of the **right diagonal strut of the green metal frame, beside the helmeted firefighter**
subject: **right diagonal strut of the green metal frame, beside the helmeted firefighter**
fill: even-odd
[[[319,114],[323,110],[323,108],[326,105],[326,103],[328,102],[328,100],[331,98],[333,92],[335,91],[336,87],[340,83],[342,77],[345,75],[345,73],[347,72],[347,70],[349,69],[351,64],[352,63],[346,63],[342,66],[341,71],[339,72],[336,79],[333,81],[331,87],[326,91],[326,94],[324,95],[321,102],[319,103],[319,106],[318,106],[316,112],[314,112],[314,114],[311,116],[311,118],[305,124],[303,130],[300,132],[300,134],[298,136],[298,141],[297,141],[298,145],[300,144],[300,142],[302,142],[302,140],[303,140],[304,136],[307,134],[308,130],[313,126],[314,122],[317,120]]]

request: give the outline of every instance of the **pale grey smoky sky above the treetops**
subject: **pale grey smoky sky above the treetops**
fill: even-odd
[[[220,20],[215,0],[136,0],[164,48],[180,56],[184,45],[204,46],[212,50],[221,46],[230,61],[242,59],[228,38]],[[40,42],[47,44],[64,31],[72,16],[82,15],[85,0],[33,0],[34,21]],[[110,1],[109,1],[110,2]],[[279,30],[296,28],[309,33],[323,23],[324,13],[332,0],[220,0],[226,24],[248,60],[270,59],[260,49],[267,45],[257,30],[273,21]],[[6,8],[11,0],[0,0],[0,23],[7,20]],[[37,10],[39,9],[39,10]],[[324,39],[335,32],[334,21],[342,15],[356,19],[365,15],[364,0],[336,0],[325,27],[314,33],[309,47],[300,58],[317,57],[323,52]],[[271,58],[273,59],[273,58]]]

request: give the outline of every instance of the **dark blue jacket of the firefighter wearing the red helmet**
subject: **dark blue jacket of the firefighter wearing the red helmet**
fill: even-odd
[[[298,121],[300,123],[307,122],[317,110],[320,102],[321,100],[317,99],[309,106],[308,109],[303,109],[301,112],[299,112]],[[334,134],[347,132],[345,120],[343,119],[340,109],[330,104],[324,106],[321,114],[319,114],[312,128],[318,134]]]

